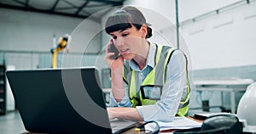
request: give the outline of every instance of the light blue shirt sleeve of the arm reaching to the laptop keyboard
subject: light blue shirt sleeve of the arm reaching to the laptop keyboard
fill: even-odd
[[[179,102],[186,88],[186,59],[176,50],[167,64],[166,84],[160,100],[152,105],[137,106],[138,113],[144,121],[172,121],[177,114]]]

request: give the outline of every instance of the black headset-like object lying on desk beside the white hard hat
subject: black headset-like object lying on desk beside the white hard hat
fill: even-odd
[[[241,134],[242,126],[233,114],[218,114],[207,117],[201,128],[174,131],[174,134]]]

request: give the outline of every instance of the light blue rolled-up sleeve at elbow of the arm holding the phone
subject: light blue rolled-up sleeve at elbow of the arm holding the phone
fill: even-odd
[[[132,107],[132,103],[130,101],[130,98],[128,97],[128,86],[125,82],[124,82],[124,86],[125,86],[125,96],[124,98],[122,98],[122,100],[119,103],[116,102],[115,98],[113,97],[113,93],[110,92],[110,102],[109,102],[110,107]]]

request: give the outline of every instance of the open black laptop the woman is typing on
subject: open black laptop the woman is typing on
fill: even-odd
[[[121,133],[137,121],[108,119],[95,67],[6,71],[26,131]]]

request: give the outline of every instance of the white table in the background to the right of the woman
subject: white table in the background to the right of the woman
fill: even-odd
[[[194,91],[219,91],[230,92],[230,109],[232,114],[236,114],[236,92],[245,92],[247,86],[253,83],[252,79],[240,78],[220,78],[220,79],[204,79],[193,82]],[[223,101],[223,100],[222,100]]]

